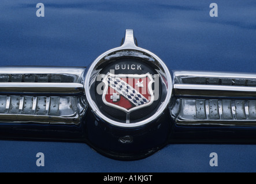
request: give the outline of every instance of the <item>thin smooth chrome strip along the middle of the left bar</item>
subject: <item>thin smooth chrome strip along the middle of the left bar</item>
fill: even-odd
[[[0,83],[0,93],[33,93],[49,95],[77,95],[82,94],[84,87],[80,83],[25,83],[25,82],[10,82]]]

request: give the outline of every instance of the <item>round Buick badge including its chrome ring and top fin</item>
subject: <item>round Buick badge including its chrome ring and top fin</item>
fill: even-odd
[[[102,53],[88,68],[85,89],[96,117],[122,128],[156,121],[169,104],[172,78],[159,57],[136,45],[133,30],[121,47]]]

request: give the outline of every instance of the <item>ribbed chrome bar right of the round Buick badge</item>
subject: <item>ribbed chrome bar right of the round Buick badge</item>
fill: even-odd
[[[174,71],[177,125],[256,127],[256,74]]]

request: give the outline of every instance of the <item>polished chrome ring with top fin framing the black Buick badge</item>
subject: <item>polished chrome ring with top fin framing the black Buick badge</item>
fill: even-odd
[[[165,78],[167,81],[167,86],[166,86],[166,98],[164,102],[161,104],[161,106],[158,108],[157,112],[153,114],[153,116],[146,118],[143,121],[139,122],[134,122],[130,124],[125,124],[123,122],[118,122],[114,121],[111,118],[105,116],[97,107],[95,102],[91,98],[90,94],[90,80],[91,80],[91,75],[94,72],[95,68],[97,68],[100,64],[102,64],[102,59],[104,59],[107,56],[111,56],[111,54],[116,53],[116,52],[123,52],[123,51],[135,51],[135,52],[140,52],[143,53],[144,55],[152,57],[155,61],[157,61],[157,64],[159,64],[159,67],[162,68],[162,72],[165,74]],[[132,56],[132,55],[128,55]],[[138,57],[138,56],[136,56]],[[156,64],[156,63],[155,63]],[[172,77],[170,75],[170,72],[168,68],[166,67],[165,63],[162,62],[162,60],[155,55],[154,53],[147,51],[146,49],[137,47],[134,43],[133,39],[133,30],[127,30],[125,34],[125,40],[124,44],[121,45],[121,47],[113,48],[110,49],[109,51],[106,51],[102,53],[100,56],[97,57],[97,59],[94,60],[94,62],[91,63],[90,67],[87,70],[86,74],[86,79],[84,81],[84,88],[85,88],[85,93],[86,93],[86,98],[88,101],[88,105],[90,105],[92,111],[99,117],[101,120],[108,122],[109,124],[115,125],[117,127],[123,127],[123,128],[136,128],[136,127],[141,127],[143,125],[148,124],[149,122],[152,122],[156,120],[161,114],[164,112],[164,110],[168,107],[171,95],[172,95]]]

